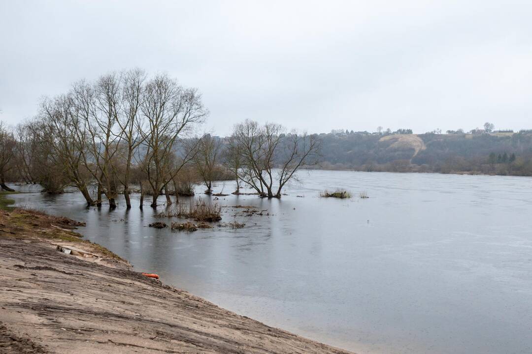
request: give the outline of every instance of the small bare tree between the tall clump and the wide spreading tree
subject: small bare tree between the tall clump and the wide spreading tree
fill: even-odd
[[[197,142],[197,151],[194,154],[194,166],[203,183],[207,187],[205,194],[212,194],[212,181],[217,171],[217,162],[220,158],[221,142],[210,134],[205,134]]]

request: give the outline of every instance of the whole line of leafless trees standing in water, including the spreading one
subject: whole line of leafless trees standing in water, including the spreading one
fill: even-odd
[[[212,193],[220,176],[264,197],[281,197],[297,169],[318,162],[319,139],[286,133],[278,124],[246,120],[221,139],[200,134],[209,115],[201,93],[167,74],[134,69],[75,82],[44,98],[34,118],[14,128],[0,124],[0,186],[36,183],[47,193],[76,187],[87,205],[116,207],[123,194],[131,208],[132,185],[140,208],[151,195],[190,194],[202,183]],[[92,192],[95,187],[95,192]]]

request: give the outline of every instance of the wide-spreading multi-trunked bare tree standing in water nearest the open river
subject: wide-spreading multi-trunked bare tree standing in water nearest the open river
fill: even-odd
[[[239,145],[243,168],[240,180],[264,197],[281,197],[282,188],[302,166],[314,165],[319,157],[319,140],[306,134],[284,133],[279,124],[246,120],[232,135]]]

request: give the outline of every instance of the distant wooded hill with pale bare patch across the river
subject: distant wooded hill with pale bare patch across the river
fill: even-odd
[[[532,132],[315,134],[325,169],[532,176]]]

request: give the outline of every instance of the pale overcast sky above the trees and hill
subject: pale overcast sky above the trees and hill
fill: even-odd
[[[0,0],[0,120],[133,67],[203,94],[203,129],[532,128],[532,2]]]

